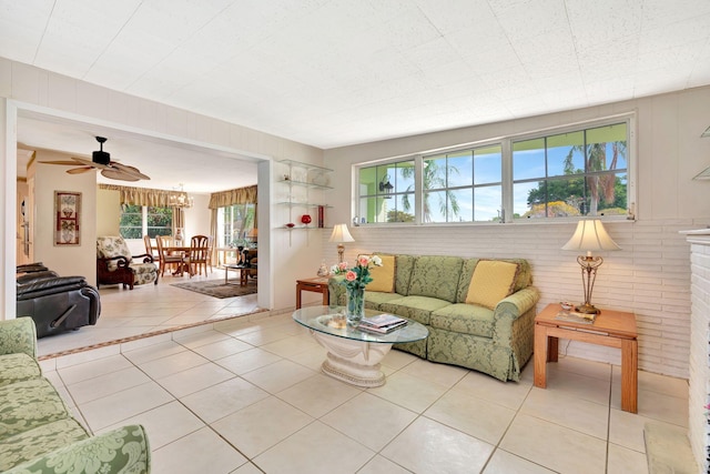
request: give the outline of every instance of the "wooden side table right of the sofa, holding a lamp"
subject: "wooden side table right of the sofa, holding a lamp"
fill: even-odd
[[[602,310],[594,324],[555,319],[559,304],[548,304],[535,317],[535,386],[547,387],[547,362],[557,362],[558,339],[621,350],[621,410],[638,412],[638,333],[633,313]]]

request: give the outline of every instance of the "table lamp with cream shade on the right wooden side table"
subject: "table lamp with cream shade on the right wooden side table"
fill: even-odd
[[[577,262],[581,266],[581,284],[585,290],[585,303],[575,307],[579,313],[599,314],[591,304],[591,292],[597,279],[597,269],[604,263],[601,256],[591,256],[592,251],[599,250],[621,250],[611,240],[600,220],[584,220],[577,223],[577,230],[571,239],[562,246],[562,250],[581,250],[586,255],[579,255]]]

